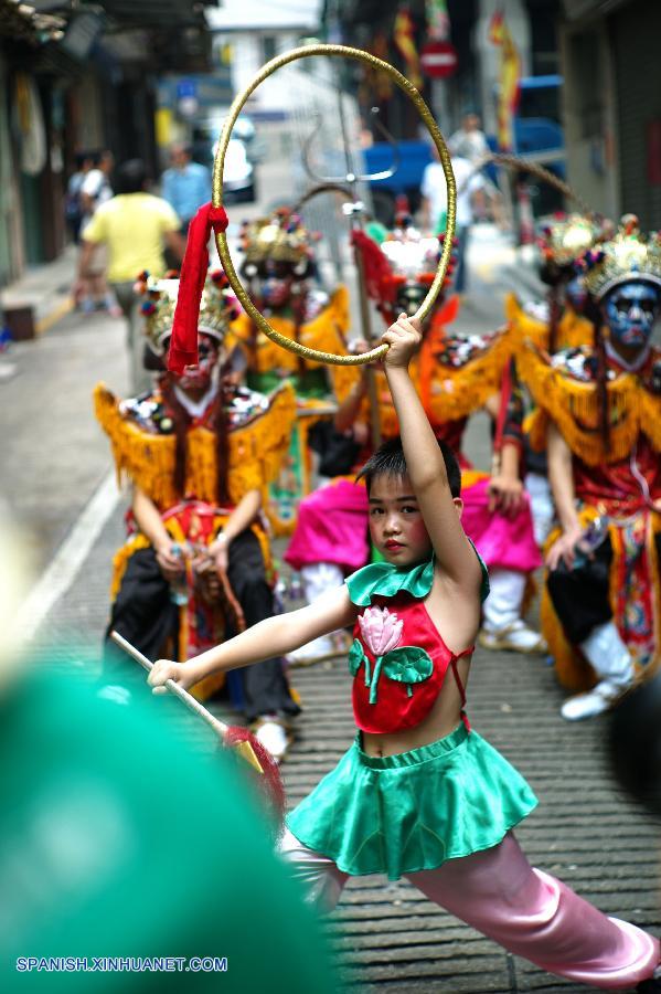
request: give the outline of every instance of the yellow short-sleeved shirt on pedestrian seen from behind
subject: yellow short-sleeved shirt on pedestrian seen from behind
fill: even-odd
[[[107,245],[108,279],[126,283],[142,269],[151,276],[163,275],[163,236],[180,228],[167,200],[151,193],[122,193],[96,209],[83,239]]]

